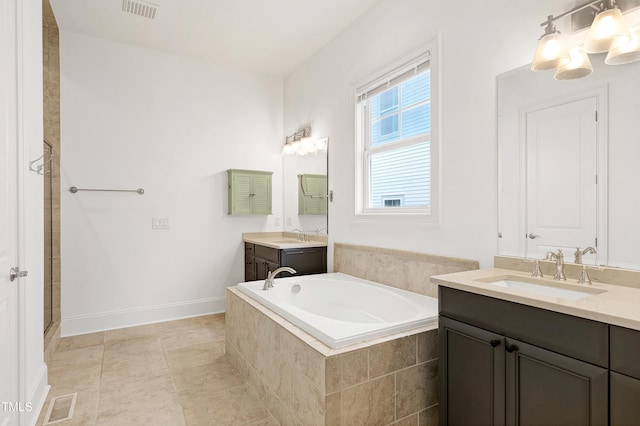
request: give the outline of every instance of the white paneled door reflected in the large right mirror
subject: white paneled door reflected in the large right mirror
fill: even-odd
[[[530,112],[527,143],[527,255],[596,246],[597,98]]]

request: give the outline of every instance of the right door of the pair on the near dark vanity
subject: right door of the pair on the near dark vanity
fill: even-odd
[[[608,371],[507,338],[508,425],[606,425]]]

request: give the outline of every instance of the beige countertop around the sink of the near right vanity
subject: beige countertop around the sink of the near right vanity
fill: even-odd
[[[498,287],[486,282],[492,277],[500,276],[523,278],[529,282],[532,279],[530,273],[486,268],[432,276],[431,282],[443,287],[640,330],[640,288],[606,283],[578,284],[575,279],[567,279],[567,281],[556,281],[547,277],[534,279],[541,284],[552,287],[559,286],[578,291],[602,291],[602,293],[580,300],[566,300],[518,289]]]

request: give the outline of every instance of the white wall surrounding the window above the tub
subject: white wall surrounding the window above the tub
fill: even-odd
[[[566,8],[563,8],[563,3]],[[479,260],[497,252],[496,76],[531,61],[539,23],[567,3],[382,0],[285,80],[285,129],[310,123],[330,138],[334,242]],[[441,219],[354,222],[351,85],[440,34]]]

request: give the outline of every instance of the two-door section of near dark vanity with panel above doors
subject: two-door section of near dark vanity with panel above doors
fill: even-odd
[[[609,326],[439,288],[442,425],[606,425]]]

